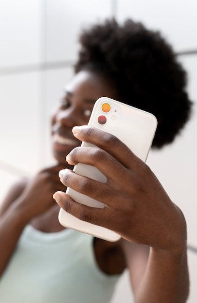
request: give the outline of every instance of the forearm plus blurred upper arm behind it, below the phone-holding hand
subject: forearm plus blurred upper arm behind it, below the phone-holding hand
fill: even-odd
[[[154,252],[148,246],[123,241],[136,303],[186,302],[189,285],[186,253]]]

